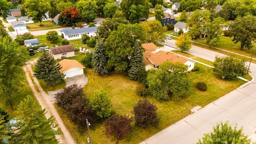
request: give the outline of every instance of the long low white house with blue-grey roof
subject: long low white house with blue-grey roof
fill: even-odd
[[[64,28],[63,30],[60,30],[60,32],[63,34],[64,38],[67,40],[77,40],[81,39],[83,34],[87,34],[87,36],[93,37],[96,36],[98,26],[92,26],[88,28]]]

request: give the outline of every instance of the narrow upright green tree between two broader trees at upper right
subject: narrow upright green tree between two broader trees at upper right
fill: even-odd
[[[206,42],[212,47],[216,46],[217,42],[220,41],[220,34],[223,33],[224,18],[214,18],[212,22],[206,23]]]

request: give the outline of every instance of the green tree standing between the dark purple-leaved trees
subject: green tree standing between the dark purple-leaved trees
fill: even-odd
[[[105,90],[100,89],[94,92],[94,96],[90,99],[90,104],[100,120],[106,120],[110,116],[112,105]]]

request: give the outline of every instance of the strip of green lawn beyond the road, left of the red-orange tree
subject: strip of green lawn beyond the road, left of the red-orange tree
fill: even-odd
[[[40,22],[35,22],[33,24],[26,24],[26,26],[27,26],[28,30],[41,29],[41,28],[52,28],[52,27],[65,28],[65,26],[55,25],[54,22],[50,22],[50,21],[43,21],[42,24],[44,26],[39,26]]]

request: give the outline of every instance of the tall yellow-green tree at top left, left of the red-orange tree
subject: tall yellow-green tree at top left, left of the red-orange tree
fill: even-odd
[[[39,21],[42,26],[42,16],[46,17],[45,13],[50,10],[51,5],[43,0],[25,0],[24,7],[28,10],[28,18]]]

